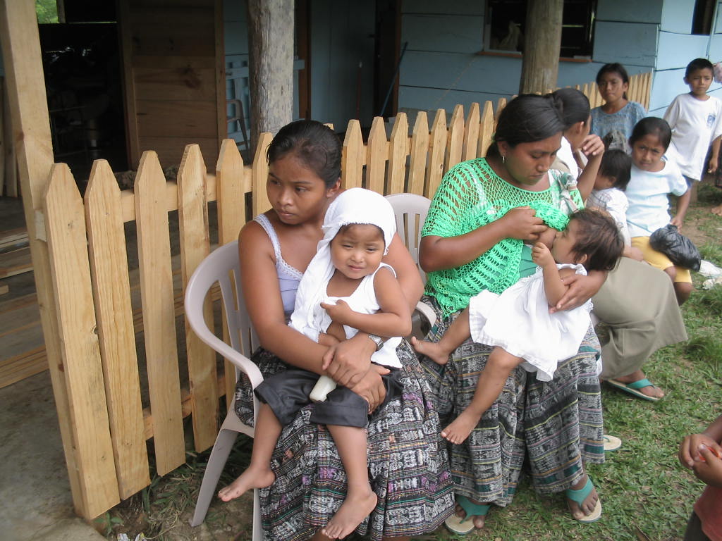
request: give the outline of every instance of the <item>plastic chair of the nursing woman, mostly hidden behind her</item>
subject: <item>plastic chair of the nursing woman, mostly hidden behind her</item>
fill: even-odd
[[[421,229],[424,226],[431,201],[423,195],[415,193],[392,193],[386,195],[386,199],[391,203],[393,214],[396,216],[396,231],[411,253],[421,278],[426,283],[426,273],[419,266],[419,242],[421,242]],[[429,325],[436,322],[434,311],[423,302],[419,302],[416,309],[425,317]]]

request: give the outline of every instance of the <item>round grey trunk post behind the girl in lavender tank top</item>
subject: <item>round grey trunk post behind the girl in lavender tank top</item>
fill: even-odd
[[[293,119],[293,0],[248,0],[251,149]]]

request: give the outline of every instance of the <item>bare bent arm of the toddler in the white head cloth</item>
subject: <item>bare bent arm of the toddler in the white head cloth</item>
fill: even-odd
[[[380,268],[374,276],[373,286],[380,311],[375,314],[362,314],[349,307],[344,301],[336,304],[321,303],[329,312],[331,320],[348,325],[365,333],[391,338],[411,333],[411,314],[401,286],[388,268]]]

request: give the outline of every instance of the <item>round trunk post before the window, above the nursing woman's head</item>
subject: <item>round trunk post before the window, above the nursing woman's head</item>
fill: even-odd
[[[519,92],[544,93],[557,87],[564,0],[527,2]]]

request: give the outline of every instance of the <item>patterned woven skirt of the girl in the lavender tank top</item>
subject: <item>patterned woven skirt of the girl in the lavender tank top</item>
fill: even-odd
[[[404,341],[401,398],[375,413],[367,428],[369,479],[378,504],[356,529],[374,541],[430,532],[453,511],[453,485],[445,444],[425,371]],[[287,365],[268,351],[253,361],[264,377]],[[253,424],[251,388],[239,379],[235,411]],[[307,540],[325,526],[346,495],[346,473],[334,440],[325,426],[309,423],[303,408],[286,426],[271,459],[276,481],[261,490],[261,515],[266,540]]]

